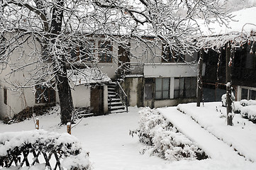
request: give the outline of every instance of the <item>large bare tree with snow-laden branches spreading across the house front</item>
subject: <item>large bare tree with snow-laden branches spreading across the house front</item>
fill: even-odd
[[[143,52],[153,57],[162,57],[152,50],[162,49],[162,44],[172,57],[192,55],[199,50],[196,19],[227,24],[228,18],[218,0],[2,0],[0,8],[0,61],[2,69],[9,70],[5,81],[12,89],[56,84],[62,123],[73,111],[66,66],[77,69],[98,62],[94,54],[102,50],[91,47],[92,40],[104,37],[125,49],[133,42],[133,47],[143,46]],[[87,50],[77,49],[80,46]],[[73,56],[77,52],[78,60]],[[23,83],[13,79],[19,71],[26,71]]]

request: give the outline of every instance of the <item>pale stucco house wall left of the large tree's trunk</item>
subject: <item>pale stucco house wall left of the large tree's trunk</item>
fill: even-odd
[[[6,35],[6,38],[10,37],[11,34]],[[38,50],[40,50],[40,45],[38,42],[28,38],[27,42],[24,43],[21,48],[16,48],[16,50],[11,52],[8,65],[1,64],[1,118],[13,117],[14,114],[23,111],[23,109],[26,107],[35,105],[35,95],[33,93],[34,87],[31,86],[31,84],[34,82],[27,82],[31,78],[31,73],[35,73],[35,70],[33,69],[40,69],[38,65],[30,64],[38,60],[36,57],[31,57],[32,54],[35,54],[33,52],[33,47],[35,46],[37,46]],[[16,65],[17,63],[18,66]],[[28,67],[23,67],[22,69],[18,69],[18,71],[14,72],[13,74],[9,74],[10,72],[15,71],[18,67],[26,64],[28,64]],[[9,81],[9,83],[6,83],[5,79]],[[11,89],[15,89],[15,86],[12,84],[15,84],[15,86],[26,86],[26,88],[18,89],[18,91],[12,91]],[[7,89],[7,104],[4,103],[4,88]]]

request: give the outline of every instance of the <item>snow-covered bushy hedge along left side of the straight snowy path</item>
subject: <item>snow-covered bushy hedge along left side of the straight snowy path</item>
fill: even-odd
[[[156,110],[145,108],[140,111],[139,128],[136,133],[145,143],[143,153],[157,155],[167,160],[206,159],[207,156],[194,142],[173,127]]]

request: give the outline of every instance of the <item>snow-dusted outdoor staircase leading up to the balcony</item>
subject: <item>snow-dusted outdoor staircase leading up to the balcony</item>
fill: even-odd
[[[126,112],[126,106],[116,92],[116,86],[116,82],[108,83],[108,113]]]

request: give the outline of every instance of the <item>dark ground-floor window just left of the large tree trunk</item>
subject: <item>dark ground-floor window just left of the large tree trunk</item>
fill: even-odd
[[[56,93],[52,88],[47,86],[35,86],[35,103],[55,103]]]

